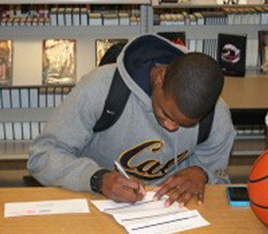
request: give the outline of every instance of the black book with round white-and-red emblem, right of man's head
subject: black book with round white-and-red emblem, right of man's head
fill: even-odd
[[[217,60],[225,75],[245,75],[246,48],[247,35],[218,35]]]

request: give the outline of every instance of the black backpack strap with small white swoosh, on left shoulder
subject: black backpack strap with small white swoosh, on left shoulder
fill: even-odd
[[[125,105],[130,96],[130,89],[121,79],[121,75],[116,69],[113,74],[113,80],[105,100],[105,108],[100,118],[96,121],[93,128],[94,132],[107,130],[120,118]]]

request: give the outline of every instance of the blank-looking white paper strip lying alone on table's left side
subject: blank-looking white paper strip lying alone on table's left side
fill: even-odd
[[[51,200],[4,204],[4,217],[57,213],[89,213],[87,199]]]

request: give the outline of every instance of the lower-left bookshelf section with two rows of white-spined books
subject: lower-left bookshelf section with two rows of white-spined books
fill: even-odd
[[[0,88],[0,161],[27,159],[31,141],[40,134],[54,108],[72,86]]]

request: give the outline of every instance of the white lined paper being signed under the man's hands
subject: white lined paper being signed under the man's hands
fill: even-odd
[[[154,201],[154,195],[154,192],[147,192],[142,201],[132,205],[111,200],[92,200],[91,203],[99,211],[112,214],[115,221],[124,226],[129,233],[173,233],[210,224],[197,210],[189,211],[176,203],[164,207],[167,196]]]

